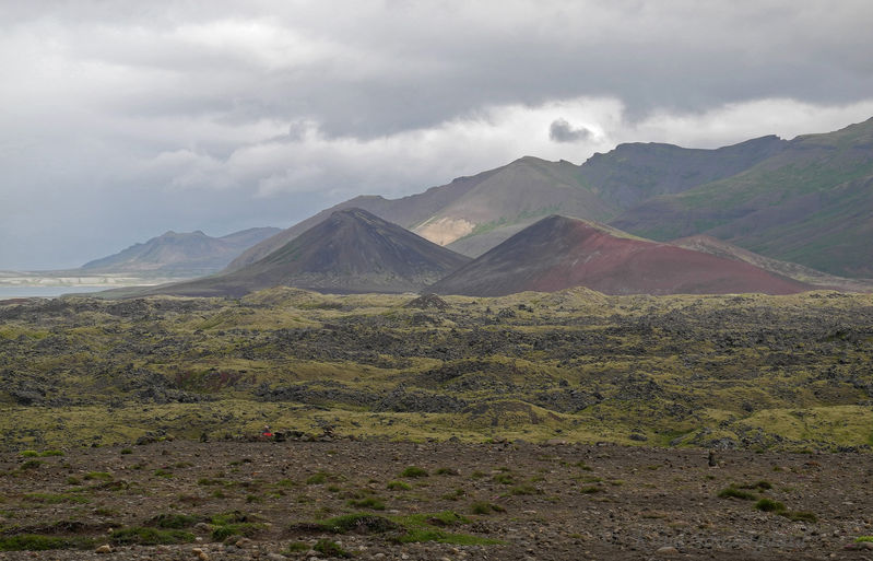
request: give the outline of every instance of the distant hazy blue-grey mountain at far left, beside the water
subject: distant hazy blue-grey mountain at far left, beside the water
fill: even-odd
[[[281,232],[278,227],[252,227],[223,237],[203,232],[166,232],[144,244],[82,266],[83,272],[165,274],[197,277],[220,271],[244,250]]]

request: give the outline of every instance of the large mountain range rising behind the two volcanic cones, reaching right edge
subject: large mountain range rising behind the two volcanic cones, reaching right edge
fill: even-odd
[[[526,156],[400,199],[356,197],[244,252],[250,265],[327,219],[362,208],[476,257],[550,214],[656,241],[696,234],[831,274],[873,277],[873,119],[793,140],[717,150],[621,144],[581,165]]]

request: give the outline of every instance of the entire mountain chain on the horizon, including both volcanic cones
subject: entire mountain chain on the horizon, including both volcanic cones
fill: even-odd
[[[579,166],[526,156],[400,199],[356,197],[284,231],[169,232],[85,268],[190,270],[200,259],[212,272],[238,241],[221,273],[155,291],[869,291],[839,274],[873,274],[871,211],[873,119],[717,150],[621,144]]]

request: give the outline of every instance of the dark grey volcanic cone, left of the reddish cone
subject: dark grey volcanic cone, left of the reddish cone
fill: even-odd
[[[469,260],[365,210],[349,209],[239,270],[148,292],[239,296],[278,285],[331,293],[414,292]]]

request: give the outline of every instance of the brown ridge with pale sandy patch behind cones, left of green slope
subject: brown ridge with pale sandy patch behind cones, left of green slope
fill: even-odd
[[[363,208],[432,242],[475,257],[542,217],[561,212],[605,222],[617,217],[622,208],[629,204],[629,196],[625,191],[675,190],[674,182],[670,178],[681,173],[692,173],[707,179],[722,177],[778,152],[784,143],[775,136],[715,150],[663,143],[626,143],[606,154],[594,154],[580,165],[563,160],[548,162],[535,156],[522,156],[504,166],[458,177],[449,184],[399,199],[368,195],[340,202],[246,250],[228,265],[227,270],[257,261],[327,219],[331,212],[352,207]],[[625,153],[654,154],[664,151],[672,154],[666,162],[659,163],[654,155],[644,157],[639,165],[618,162]],[[711,162],[725,155],[731,160],[729,164],[716,165]],[[625,167],[610,175],[603,168],[606,162]],[[654,183],[649,177],[652,170],[660,177]],[[598,178],[605,182],[606,191],[615,190],[613,184],[616,182],[629,182],[632,187],[626,187],[624,195],[603,197],[599,190],[604,188],[594,185]],[[685,184],[682,186],[684,188]],[[639,197],[637,195],[633,200]]]

